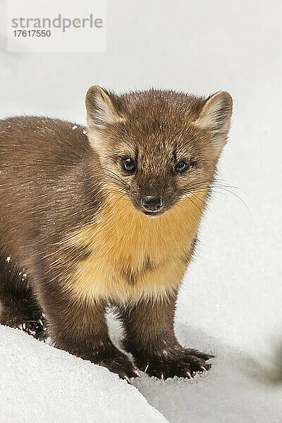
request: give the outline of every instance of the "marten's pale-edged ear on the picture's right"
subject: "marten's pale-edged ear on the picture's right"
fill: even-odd
[[[219,154],[226,145],[232,115],[232,97],[226,91],[219,91],[207,99],[195,125],[209,130]]]

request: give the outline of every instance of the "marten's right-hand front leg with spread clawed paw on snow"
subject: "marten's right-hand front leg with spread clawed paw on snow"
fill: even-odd
[[[125,326],[125,350],[133,354],[135,364],[149,376],[192,377],[208,370],[212,355],[183,348],[174,334],[176,296],[160,300],[142,300],[131,308],[121,309]]]

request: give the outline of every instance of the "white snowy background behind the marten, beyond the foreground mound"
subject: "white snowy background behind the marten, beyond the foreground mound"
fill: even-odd
[[[85,123],[84,96],[93,84],[231,93],[221,188],[202,223],[176,317],[183,343],[218,358],[192,383],[142,377],[135,385],[170,422],[280,422],[281,1],[111,0],[107,51],[97,54],[7,54],[4,6],[0,16],[1,117]]]

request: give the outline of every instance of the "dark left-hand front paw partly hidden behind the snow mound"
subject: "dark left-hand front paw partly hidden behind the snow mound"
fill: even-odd
[[[92,362],[106,367],[110,372],[117,373],[121,379],[126,379],[127,381],[132,377],[138,376],[137,369],[123,353],[120,355],[103,357],[102,360],[92,360]]]

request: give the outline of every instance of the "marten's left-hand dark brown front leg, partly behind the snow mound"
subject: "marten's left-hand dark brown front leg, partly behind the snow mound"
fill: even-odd
[[[111,342],[103,301],[73,300],[59,284],[39,295],[56,348],[107,367],[121,378],[136,377],[136,369]]]

